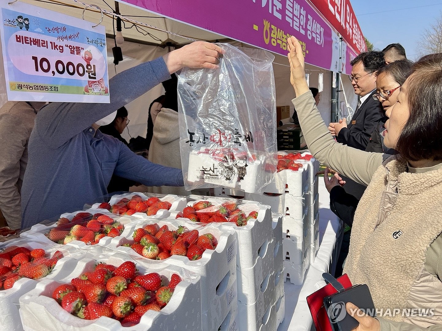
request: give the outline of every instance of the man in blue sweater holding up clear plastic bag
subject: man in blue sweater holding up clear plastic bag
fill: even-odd
[[[53,102],[38,112],[23,179],[22,229],[107,194],[113,173],[146,186],[183,186],[180,169],[149,162],[97,129],[175,71],[218,68],[221,53],[217,45],[196,41],[115,75],[109,81],[109,104]]]

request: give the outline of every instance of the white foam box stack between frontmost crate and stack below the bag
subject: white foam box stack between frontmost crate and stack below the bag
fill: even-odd
[[[170,230],[185,226],[189,230],[197,229],[200,235],[212,233],[217,238],[217,247],[215,250],[206,250],[201,259],[196,261],[179,255],[156,261],[138,255],[130,247],[122,246],[122,244],[133,243],[132,234],[135,229],[153,223],[157,223],[160,227],[167,225]],[[122,252],[130,258],[178,266],[199,275],[201,277],[202,323],[205,331],[217,331],[229,313],[231,313],[232,321],[235,319],[237,312],[236,236],[233,230],[219,229],[218,223],[202,225],[202,223],[187,222],[180,218],[176,220],[150,218],[127,226],[121,236],[107,238],[99,244]]]

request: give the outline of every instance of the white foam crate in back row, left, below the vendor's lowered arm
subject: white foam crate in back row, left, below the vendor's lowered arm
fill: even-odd
[[[124,193],[124,194],[116,194],[112,196],[109,200],[109,203],[111,206],[113,206],[115,203],[118,203],[123,198],[131,199],[133,196],[141,196],[141,198],[144,200],[147,200],[149,198],[152,198],[154,196],[157,196],[161,201],[167,201],[171,203],[170,209],[167,211],[165,209],[160,209],[156,215],[148,216],[146,213],[134,213],[131,216],[135,216],[138,218],[149,218],[149,217],[168,217],[170,211],[176,211],[176,210],[183,210],[184,207],[186,207],[186,198],[175,196],[173,194],[168,195],[155,195],[152,193],[141,193],[141,192],[130,192],[130,193]],[[101,203],[94,203],[92,205],[92,209],[99,210],[99,211],[107,211],[107,209],[100,209],[98,208]],[[108,211],[109,212],[109,211]]]

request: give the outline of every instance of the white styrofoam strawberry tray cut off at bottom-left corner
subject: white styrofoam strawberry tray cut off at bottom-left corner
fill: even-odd
[[[68,262],[70,260],[83,258],[86,256],[86,252],[78,251],[74,247],[59,247],[60,245],[55,243],[52,245],[34,241],[29,238],[17,238],[4,242],[0,245],[0,250],[3,251],[4,249],[11,248],[12,246],[26,247],[30,250],[43,248],[46,251],[47,256],[50,257],[53,256],[53,253],[59,250],[64,256],[57,261],[57,264],[53,270],[45,278],[34,280],[24,277],[17,280],[14,283],[14,286],[12,286],[10,289],[0,290],[0,311],[2,312],[0,314],[0,325],[2,330],[21,331],[23,330],[23,326],[19,316],[19,297],[34,289],[38,282],[41,282],[44,279],[52,279],[57,274],[68,275],[71,273],[75,268],[75,264]]]

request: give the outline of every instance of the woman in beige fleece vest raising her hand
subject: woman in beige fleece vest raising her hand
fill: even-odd
[[[400,156],[385,159],[331,138],[294,37],[289,50],[293,105],[310,151],[330,168],[368,184],[354,215],[344,272],[353,284],[369,286],[377,309],[400,309],[376,319],[354,316],[360,323],[356,330],[442,330],[442,54],[413,66],[398,102],[388,109],[384,142]],[[347,312],[351,308],[347,304]],[[402,314],[415,308],[431,310]]]

